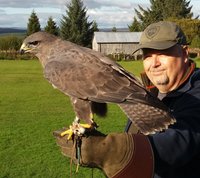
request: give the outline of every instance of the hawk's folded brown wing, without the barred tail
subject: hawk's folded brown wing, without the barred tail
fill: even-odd
[[[102,103],[121,103],[133,92],[142,95],[141,98],[146,93],[120,73],[120,69],[102,62],[98,56],[73,49],[62,54],[59,57],[62,59],[55,58],[46,64],[45,77],[70,96]]]

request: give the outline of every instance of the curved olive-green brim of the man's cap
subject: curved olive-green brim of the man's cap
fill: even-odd
[[[164,49],[168,49],[171,48],[172,46],[174,46],[175,44],[177,44],[177,41],[165,41],[165,42],[148,42],[145,44],[138,44],[135,48],[135,50],[133,51],[133,53],[135,53],[136,51],[140,50],[140,49],[144,49],[144,48],[149,48],[149,49],[157,49],[157,50],[164,50]]]

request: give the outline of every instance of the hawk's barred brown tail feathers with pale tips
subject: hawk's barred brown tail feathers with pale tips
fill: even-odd
[[[119,106],[145,135],[165,130],[176,121],[167,110],[144,103],[123,103]]]

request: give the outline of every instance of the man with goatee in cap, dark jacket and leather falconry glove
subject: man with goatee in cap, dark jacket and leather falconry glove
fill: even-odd
[[[161,21],[144,30],[139,49],[147,89],[169,107],[177,122],[148,136],[133,133],[130,121],[128,133],[94,132],[82,139],[79,162],[112,178],[199,178],[200,70],[188,58],[186,37],[176,24]],[[72,141],[56,138],[62,153],[77,161]]]

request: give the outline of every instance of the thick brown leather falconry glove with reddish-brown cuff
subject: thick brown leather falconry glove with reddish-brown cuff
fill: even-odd
[[[77,158],[74,139],[67,135],[54,136],[62,153],[81,166],[103,170],[109,178],[152,178],[153,154],[147,136],[142,134],[112,133],[104,135],[98,131],[81,138],[81,158]]]

